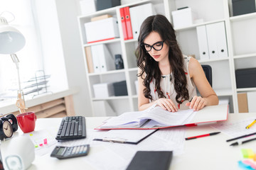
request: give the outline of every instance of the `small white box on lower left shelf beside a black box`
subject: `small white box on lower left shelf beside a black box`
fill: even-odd
[[[93,84],[95,98],[107,98],[114,96],[114,88],[112,83]]]

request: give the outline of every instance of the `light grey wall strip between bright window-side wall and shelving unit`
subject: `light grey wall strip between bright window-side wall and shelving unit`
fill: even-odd
[[[49,1],[49,0],[48,0]],[[70,89],[79,89],[73,96],[75,114],[91,116],[89,91],[85,72],[85,62],[82,57],[82,47],[78,29],[78,0],[55,0],[58,23],[60,28],[65,69],[67,71],[68,86]]]

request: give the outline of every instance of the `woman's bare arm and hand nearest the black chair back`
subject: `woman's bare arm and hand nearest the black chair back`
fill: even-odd
[[[196,88],[201,96],[194,96],[191,103],[187,103],[187,106],[190,105],[190,108],[198,111],[204,106],[218,105],[218,96],[206,79],[206,74],[203,72],[203,68],[198,60],[191,58],[188,63],[188,69],[190,77],[196,84]]]

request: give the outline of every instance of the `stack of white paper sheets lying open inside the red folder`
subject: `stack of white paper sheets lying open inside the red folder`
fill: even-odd
[[[192,109],[172,113],[154,105],[145,111],[127,112],[111,118],[100,128],[154,128],[184,125],[188,123],[188,118],[193,116],[193,113]]]

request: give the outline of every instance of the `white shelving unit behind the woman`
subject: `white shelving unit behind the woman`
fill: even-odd
[[[171,11],[176,11],[177,8],[184,6],[191,7],[193,11],[196,11],[198,18],[203,18],[203,23],[196,23],[184,28],[175,28],[177,40],[183,54],[195,55],[201,64],[209,64],[212,67],[213,89],[220,99],[225,98],[230,101],[230,113],[238,113],[237,94],[240,92],[256,91],[256,88],[236,89],[235,83],[235,69],[256,66],[256,13],[232,16],[230,14],[232,13],[231,0],[142,0],[97,11],[86,16],[78,16],[81,46],[83,49],[84,47],[104,43],[112,54],[121,54],[124,60],[124,69],[102,73],[88,73],[85,51],[83,52],[87,72],[85,77],[88,82],[92,106],[94,101],[105,101],[117,115],[127,111],[137,111],[137,94],[134,84],[134,81],[137,80],[137,59],[134,55],[137,40],[124,40],[119,8],[139,6],[147,3],[152,3],[156,13],[163,14],[171,23]],[[84,24],[90,22],[90,18],[103,14],[117,17],[120,38],[87,44]],[[196,27],[221,21],[225,23],[228,57],[218,60],[200,60]],[[127,82],[128,96],[95,98],[92,88],[93,84],[123,80]],[[97,115],[97,113],[94,113],[94,115]]]

